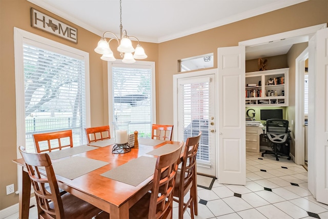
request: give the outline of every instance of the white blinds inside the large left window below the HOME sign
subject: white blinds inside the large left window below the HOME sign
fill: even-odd
[[[72,129],[73,144],[85,138],[86,97],[83,60],[24,44],[26,147],[32,134]]]

